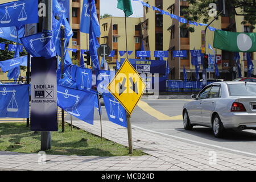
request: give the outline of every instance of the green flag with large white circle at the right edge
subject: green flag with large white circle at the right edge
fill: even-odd
[[[256,33],[215,30],[213,47],[230,52],[255,52]]]

